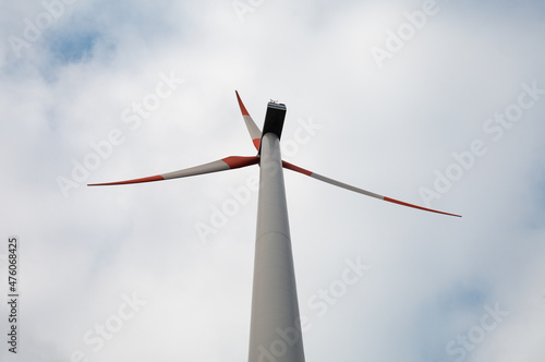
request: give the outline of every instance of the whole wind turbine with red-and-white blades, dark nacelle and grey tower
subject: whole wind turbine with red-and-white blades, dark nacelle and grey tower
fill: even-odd
[[[286,106],[275,101],[268,102],[262,132],[244,107],[239,93],[235,93],[242,117],[257,149],[256,156],[230,156],[169,173],[126,181],[94,183],[89,186],[170,180],[259,164],[249,361],[301,362],[304,361],[303,339],[282,168],[390,203],[437,214],[457,217],[460,215],[383,196],[283,161],[280,155],[280,136],[286,117]]]

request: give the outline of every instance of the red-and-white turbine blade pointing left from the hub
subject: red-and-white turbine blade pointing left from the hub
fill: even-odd
[[[190,176],[204,174],[210,172],[218,172],[225,170],[232,170],[235,168],[246,167],[251,165],[255,165],[259,162],[259,157],[257,156],[230,156],[222,159],[218,159],[217,161],[211,161],[208,164],[186,168],[183,170],[178,170],[173,172],[150,176],[142,179],[133,179],[126,181],[116,181],[116,182],[106,182],[106,183],[90,183],[88,186],[106,186],[106,185],[114,185],[114,184],[130,184],[130,183],[142,183],[142,182],[153,182],[153,181],[162,181],[170,179],[179,179],[186,178]]]

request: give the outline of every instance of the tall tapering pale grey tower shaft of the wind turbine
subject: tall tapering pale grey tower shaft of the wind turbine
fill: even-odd
[[[272,132],[262,137],[259,177],[249,361],[303,362],[280,141]]]

